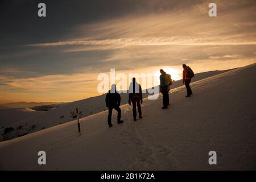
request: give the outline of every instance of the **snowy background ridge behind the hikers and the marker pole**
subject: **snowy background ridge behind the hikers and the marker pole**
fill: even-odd
[[[210,71],[205,73],[197,73],[195,78],[193,78],[193,81],[201,80],[203,78],[207,78],[223,72],[226,71]],[[174,82],[171,88],[176,88],[181,85],[183,85],[182,81],[178,80]],[[143,94],[143,97],[147,97],[147,94]],[[121,104],[127,104],[127,101],[127,94],[121,94]],[[81,117],[87,117],[88,115],[96,114],[101,111],[107,110],[105,106],[105,94],[102,96],[63,104],[56,109],[45,112],[37,112],[36,114],[35,112],[27,112],[27,117],[19,117],[19,114],[16,114],[16,109],[0,110],[0,126],[1,128],[2,126],[4,126],[5,128],[13,127],[14,129],[19,126],[23,126],[23,134],[34,133],[35,131],[72,121],[73,119],[75,119],[74,117],[76,116],[74,115],[76,107],[78,107],[79,110],[82,112]],[[5,128],[0,130],[0,134],[3,133],[3,130]],[[4,135],[3,137],[5,138],[5,140],[7,140],[15,138],[17,135],[20,135],[20,131],[13,131],[7,135]]]

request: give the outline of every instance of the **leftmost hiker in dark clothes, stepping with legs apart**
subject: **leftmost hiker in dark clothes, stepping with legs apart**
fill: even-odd
[[[109,92],[106,94],[106,106],[109,108],[109,115],[108,115],[109,127],[112,127],[111,118],[112,118],[113,109],[115,109],[118,112],[117,123],[120,124],[123,122],[121,120],[121,109],[119,107],[120,102],[121,102],[120,94],[117,93],[117,90],[115,89],[115,85],[113,84]]]

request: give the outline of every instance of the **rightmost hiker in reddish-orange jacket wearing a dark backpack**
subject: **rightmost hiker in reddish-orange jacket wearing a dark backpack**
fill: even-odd
[[[187,65],[183,64],[182,67],[183,67],[183,85],[185,85],[187,89],[187,96],[185,97],[190,97],[193,93],[189,84],[191,82],[191,78],[193,78],[195,74],[192,71],[192,69],[189,68]]]

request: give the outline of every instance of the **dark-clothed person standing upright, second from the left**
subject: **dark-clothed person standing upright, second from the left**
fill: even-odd
[[[142,104],[142,89],[141,85],[138,84],[136,78],[131,80],[131,84],[129,86],[129,105],[133,103],[133,121],[137,121],[137,110],[136,104],[138,107],[139,118],[142,118],[141,112],[141,104]]]

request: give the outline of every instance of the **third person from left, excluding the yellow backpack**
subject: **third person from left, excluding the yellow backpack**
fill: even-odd
[[[160,92],[163,94],[163,107],[162,109],[168,109],[169,105],[169,84],[167,81],[166,72],[160,69]]]

